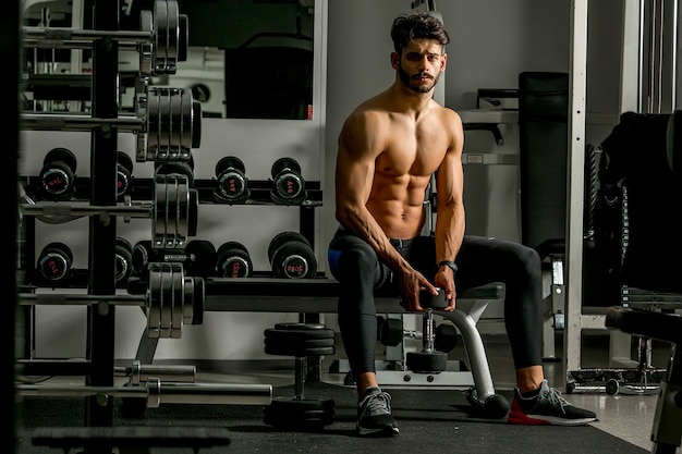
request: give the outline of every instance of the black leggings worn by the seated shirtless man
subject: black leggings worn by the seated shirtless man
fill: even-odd
[[[412,266],[431,280],[436,272],[433,236],[391,240],[391,244]],[[329,244],[329,266],[341,283],[339,328],[351,371],[357,378],[375,372],[377,343],[374,292],[392,285],[392,272],[369,245],[339,230]],[[541,365],[543,281],[537,251],[519,243],[465,235],[456,256],[456,289],[504,283],[504,326],[516,369]]]

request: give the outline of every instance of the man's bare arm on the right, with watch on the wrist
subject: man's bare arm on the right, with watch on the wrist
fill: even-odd
[[[464,172],[462,169],[462,149],[464,132],[460,116],[452,112],[453,119],[448,122],[452,125],[453,140],[446,154],[446,158],[438,168],[436,189],[438,209],[436,216],[436,261],[454,261],[464,237]],[[436,271],[435,282],[446,289],[451,308],[454,308],[456,292],[452,271],[441,267]]]

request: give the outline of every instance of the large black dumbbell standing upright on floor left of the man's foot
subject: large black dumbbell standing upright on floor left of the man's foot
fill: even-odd
[[[307,398],[304,383],[308,357],[333,355],[334,331],[322,323],[277,323],[264,331],[265,353],[295,357],[294,395],[275,397],[263,421],[280,429],[319,430],[333,422],[334,402]]]

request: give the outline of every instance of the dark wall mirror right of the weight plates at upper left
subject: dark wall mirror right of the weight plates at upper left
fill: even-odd
[[[191,87],[205,116],[309,120],[313,0],[179,1],[190,51],[168,85]]]

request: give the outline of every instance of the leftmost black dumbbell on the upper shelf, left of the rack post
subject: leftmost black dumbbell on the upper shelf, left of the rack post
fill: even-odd
[[[52,148],[40,169],[40,194],[51,200],[69,200],[75,193],[76,157],[68,148]]]

